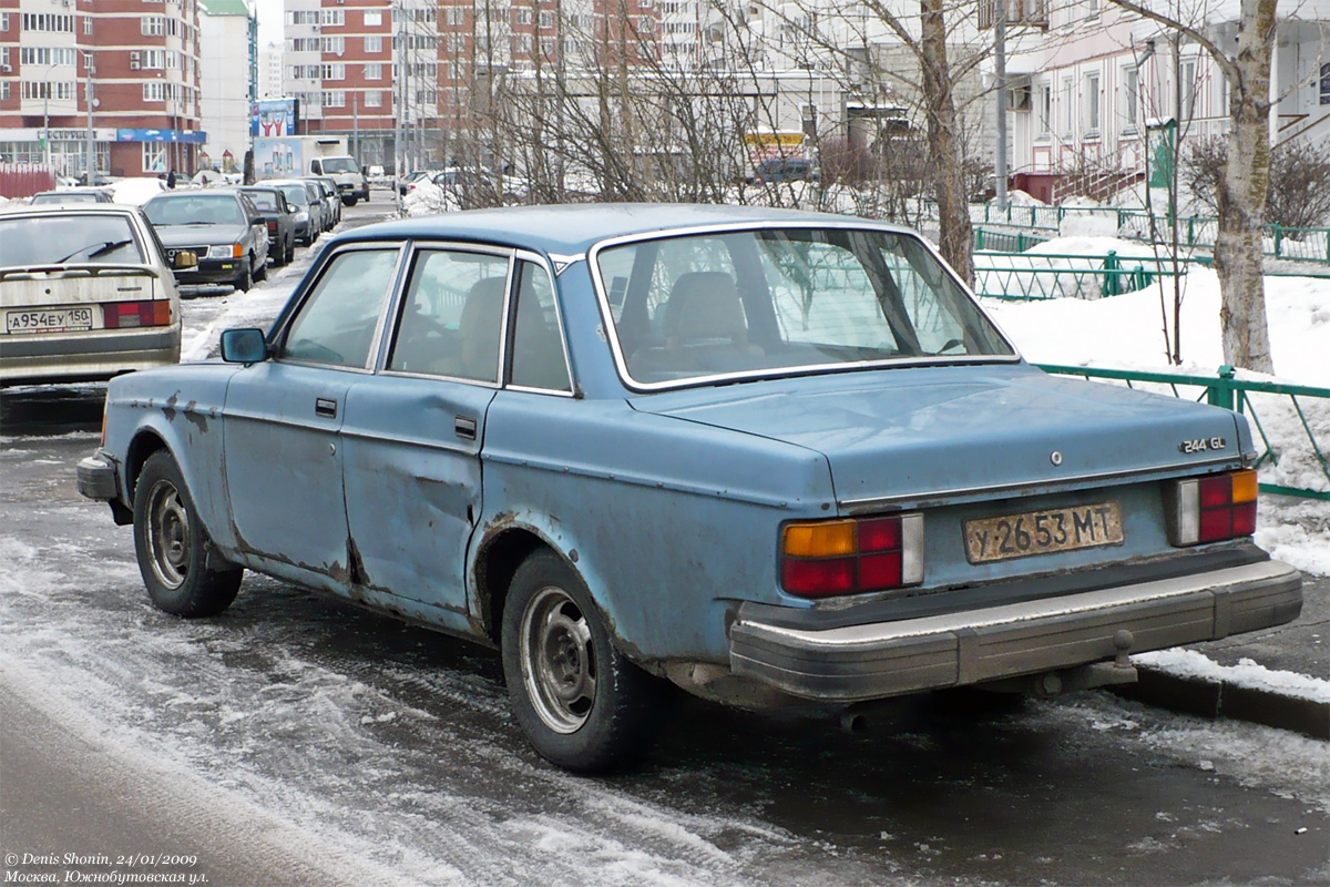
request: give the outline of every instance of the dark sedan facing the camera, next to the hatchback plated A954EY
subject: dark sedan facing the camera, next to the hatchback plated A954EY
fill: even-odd
[[[197,267],[176,273],[181,286],[230,283],[243,293],[267,277],[267,222],[247,194],[230,188],[162,191],[144,213],[166,245],[188,250]]]

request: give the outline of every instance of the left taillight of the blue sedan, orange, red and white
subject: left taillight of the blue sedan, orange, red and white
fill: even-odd
[[[786,524],[781,588],[799,597],[882,592],[923,581],[923,515]]]

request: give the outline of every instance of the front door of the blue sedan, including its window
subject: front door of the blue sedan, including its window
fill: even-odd
[[[271,336],[273,358],[231,376],[226,485],[245,551],[271,572],[339,590],[347,523],[338,436],[347,390],[382,339],[398,245],[331,255]]]

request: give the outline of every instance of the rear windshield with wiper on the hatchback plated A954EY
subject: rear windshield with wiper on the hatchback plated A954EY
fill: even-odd
[[[144,263],[129,218],[118,214],[0,217],[0,266]]]

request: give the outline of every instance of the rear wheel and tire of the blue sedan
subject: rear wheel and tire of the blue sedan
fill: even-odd
[[[517,722],[545,759],[604,773],[649,743],[660,682],[614,648],[581,577],[553,552],[517,568],[500,646]]]

